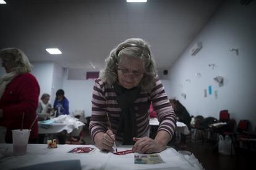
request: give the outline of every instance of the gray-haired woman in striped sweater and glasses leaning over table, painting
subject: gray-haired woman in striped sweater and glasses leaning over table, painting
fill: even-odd
[[[148,137],[151,102],[160,121],[155,139]],[[158,153],[173,137],[175,127],[176,116],[156,76],[149,45],[139,38],[121,42],[110,52],[93,87],[89,128],[96,146],[110,151],[117,140],[134,145],[133,151]]]

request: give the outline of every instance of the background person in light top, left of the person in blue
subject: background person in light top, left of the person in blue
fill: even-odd
[[[38,103],[38,107],[36,109],[36,114],[38,115],[38,121],[43,121],[49,118],[51,115],[51,111],[53,108],[49,103],[50,95],[45,93],[41,96],[41,100]]]

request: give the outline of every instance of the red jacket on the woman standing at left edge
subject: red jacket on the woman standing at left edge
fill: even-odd
[[[6,90],[0,99],[0,108],[4,115],[0,119],[0,126],[7,127],[7,143],[12,143],[12,129],[21,128],[23,113],[23,129],[28,129],[33,123],[36,118],[39,94],[39,84],[30,73],[19,75],[7,84]],[[37,121],[31,130],[30,140],[35,140],[38,136]]]

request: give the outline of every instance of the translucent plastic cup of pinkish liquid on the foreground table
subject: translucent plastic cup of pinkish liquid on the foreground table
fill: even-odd
[[[12,144],[13,144],[15,156],[26,154],[30,131],[31,130],[28,130],[28,129],[12,130]]]

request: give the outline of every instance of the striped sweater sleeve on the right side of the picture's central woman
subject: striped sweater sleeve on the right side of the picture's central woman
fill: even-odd
[[[163,84],[158,78],[156,78],[156,85],[151,91],[151,99],[153,107],[156,113],[158,113],[158,121],[160,121],[158,131],[166,131],[173,137],[176,129],[176,115],[169,103]]]

